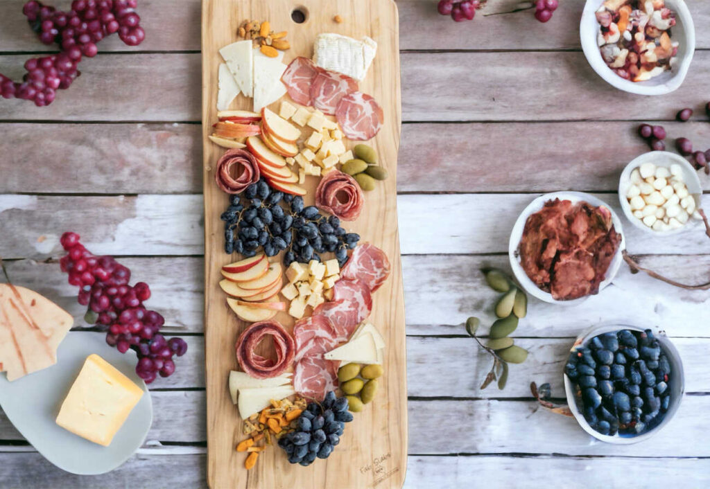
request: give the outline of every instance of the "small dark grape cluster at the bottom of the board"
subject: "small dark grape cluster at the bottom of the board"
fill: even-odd
[[[353,420],[348,400],[330,391],[321,404],[311,402],[297,418],[297,429],[282,436],[278,446],[285,450],[290,463],[310,466],[316,458],[328,458],[340,443],[345,423]]]

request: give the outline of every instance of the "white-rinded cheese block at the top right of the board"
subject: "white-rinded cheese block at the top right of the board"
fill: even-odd
[[[356,40],[327,33],[317,36],[313,50],[313,62],[317,66],[361,80],[375,59],[377,43],[368,37]]]

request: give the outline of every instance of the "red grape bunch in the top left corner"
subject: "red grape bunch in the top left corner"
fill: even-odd
[[[0,95],[32,100],[40,107],[51,104],[56,90],[69,88],[80,75],[77,65],[82,56],[97,55],[97,43],[104,37],[117,32],[129,46],[146,38],[139,25],[141,18],[134,11],[136,5],[136,0],[74,0],[72,9],[62,12],[36,0],[28,1],[23,13],[30,27],[42,43],[56,43],[61,52],[27,60],[22,82],[0,75]]]

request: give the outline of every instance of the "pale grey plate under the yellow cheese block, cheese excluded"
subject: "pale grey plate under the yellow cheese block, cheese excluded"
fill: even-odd
[[[136,353],[119,353],[106,344],[105,336],[70,331],[58,348],[55,365],[14,382],[0,374],[0,406],[8,419],[48,461],[75,474],[114,470],[143,444],[153,422],[151,394],[136,375]],[[111,363],[145,392],[109,446],[97,445],[55,423],[67,392],[92,353]]]

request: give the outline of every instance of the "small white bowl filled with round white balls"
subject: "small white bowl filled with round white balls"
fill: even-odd
[[[619,180],[621,209],[631,224],[648,233],[675,234],[698,223],[701,193],[690,163],[667,151],[640,155]]]

